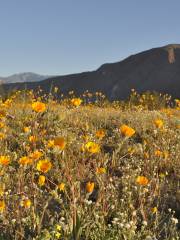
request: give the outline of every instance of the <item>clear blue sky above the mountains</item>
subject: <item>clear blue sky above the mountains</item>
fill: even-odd
[[[180,0],[0,0],[0,76],[94,70],[180,43]]]

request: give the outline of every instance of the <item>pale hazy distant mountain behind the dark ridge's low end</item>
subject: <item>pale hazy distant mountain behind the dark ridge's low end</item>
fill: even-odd
[[[17,82],[39,82],[50,76],[43,76],[32,72],[18,73],[9,77],[0,77],[0,83],[17,83]]]

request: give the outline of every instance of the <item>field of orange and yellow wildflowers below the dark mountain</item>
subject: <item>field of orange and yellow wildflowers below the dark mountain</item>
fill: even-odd
[[[180,101],[88,97],[1,99],[0,239],[180,239]]]

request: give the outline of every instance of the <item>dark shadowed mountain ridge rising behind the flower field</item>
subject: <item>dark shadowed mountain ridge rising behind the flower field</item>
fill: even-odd
[[[171,44],[132,55],[117,63],[104,64],[96,71],[52,77],[41,82],[5,84],[7,93],[13,89],[36,89],[49,92],[52,86],[67,94],[101,91],[110,100],[125,99],[132,88],[138,92],[156,91],[180,97],[180,45]]]

